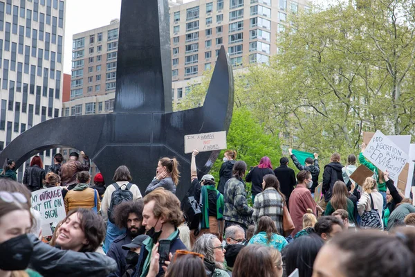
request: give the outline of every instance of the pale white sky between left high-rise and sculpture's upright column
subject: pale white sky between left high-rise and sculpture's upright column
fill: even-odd
[[[147,0],[153,1],[153,0]],[[185,0],[184,3],[194,1]],[[71,74],[72,36],[86,30],[109,25],[120,18],[121,0],[68,0],[64,48],[64,73]]]

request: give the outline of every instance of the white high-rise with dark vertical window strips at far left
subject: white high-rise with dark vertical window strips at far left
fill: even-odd
[[[58,0],[0,1],[0,150],[60,114],[65,10]],[[45,165],[55,152],[39,153]]]

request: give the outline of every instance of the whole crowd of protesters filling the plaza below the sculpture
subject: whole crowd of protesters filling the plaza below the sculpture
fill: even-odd
[[[358,159],[350,154],[346,166],[334,153],[323,172],[317,153],[305,161],[288,153],[297,175],[287,157],[277,168],[262,157],[248,170],[228,150],[219,180],[199,179],[198,150],[186,177],[175,158],[164,157],[144,192],[127,166],[116,169],[112,184],[100,173],[92,178],[84,152],[82,162],[76,152],[65,163],[56,154],[47,170],[33,157],[23,184],[16,181],[15,161],[6,159],[0,277],[415,276],[415,207],[387,171],[362,153]],[[374,172],[362,184],[351,178],[357,162]],[[180,178],[192,183],[181,200]],[[31,193],[55,187],[66,217],[45,238],[48,226],[31,208]]]

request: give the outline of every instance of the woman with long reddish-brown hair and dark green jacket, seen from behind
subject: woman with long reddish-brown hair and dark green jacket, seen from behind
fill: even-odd
[[[356,224],[353,217],[354,204],[349,198],[349,191],[346,184],[342,181],[336,181],[333,186],[333,196],[326,206],[324,215],[331,215],[335,210],[342,209],[349,213],[349,222]]]

